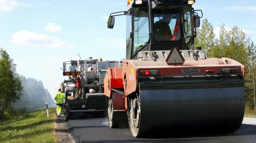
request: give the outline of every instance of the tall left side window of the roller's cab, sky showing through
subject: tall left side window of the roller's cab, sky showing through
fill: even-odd
[[[133,10],[133,46],[132,57],[134,57],[149,42],[149,17],[148,10],[144,7],[132,8]]]

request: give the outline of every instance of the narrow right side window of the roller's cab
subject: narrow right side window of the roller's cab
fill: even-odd
[[[184,8],[185,42],[188,49],[194,46],[195,27],[192,8]]]

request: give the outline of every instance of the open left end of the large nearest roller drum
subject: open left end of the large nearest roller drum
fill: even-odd
[[[137,137],[140,125],[140,98],[139,95],[129,96],[127,100],[128,105],[128,122],[131,133],[134,137]]]

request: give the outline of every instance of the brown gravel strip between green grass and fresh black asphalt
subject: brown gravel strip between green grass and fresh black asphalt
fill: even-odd
[[[55,117],[54,132],[56,134],[57,143],[75,143],[74,138],[71,135],[71,128],[67,125],[67,120],[63,114],[60,117]]]

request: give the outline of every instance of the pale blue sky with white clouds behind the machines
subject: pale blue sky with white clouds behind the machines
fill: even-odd
[[[0,0],[0,47],[26,78],[42,80],[53,96],[62,76],[62,63],[76,54],[104,60],[125,58],[126,18],[116,17],[114,29],[107,28],[110,13],[126,10],[127,0]],[[238,26],[256,43],[254,0],[196,0],[215,28],[223,23]],[[202,20],[201,20],[202,22]],[[33,85],[32,85],[33,86]]]

